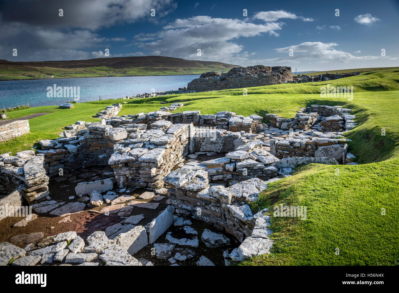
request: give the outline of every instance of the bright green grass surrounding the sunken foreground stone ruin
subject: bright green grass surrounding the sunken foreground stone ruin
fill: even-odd
[[[353,86],[353,100],[320,96],[320,87]],[[31,132],[0,143],[0,153],[38,146],[55,139],[76,120],[97,121],[93,115],[115,102],[119,115],[156,111],[183,102],[177,111],[203,114],[233,111],[292,118],[311,104],[342,105],[354,110],[358,126],[346,133],[359,165],[310,164],[293,176],[269,184],[254,212],[273,206],[307,207],[307,219],[271,217],[272,253],[240,265],[398,265],[399,264],[399,69],[365,72],[328,82],[278,84],[243,89],[160,96],[134,100],[103,100],[75,104],[74,109],[45,106],[13,111],[11,118],[44,113],[30,119]],[[160,104],[166,102],[167,104]],[[2,121],[2,120],[0,120]],[[336,168],[339,175],[336,175]],[[337,254],[337,252],[339,252]]]

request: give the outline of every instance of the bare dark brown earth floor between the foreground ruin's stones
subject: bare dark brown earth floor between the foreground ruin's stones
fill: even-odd
[[[214,157],[213,157],[214,158]],[[209,156],[201,157],[200,160],[209,160]],[[95,181],[103,178],[103,173],[108,171],[108,167],[103,166],[92,166],[90,168],[80,169],[73,171],[71,173],[63,174],[63,176],[59,176],[56,178],[52,178],[49,182],[49,191],[51,200],[55,201],[65,201],[66,203],[77,201],[78,197],[75,194],[75,186],[79,182],[88,182]],[[127,191],[129,188],[127,188]],[[138,197],[145,189],[136,189],[131,188],[131,192],[118,192],[120,189],[114,188],[113,191],[120,195],[129,195]],[[74,199],[69,199],[69,197],[75,196]],[[168,205],[166,204],[166,200],[168,197],[166,196],[164,199],[160,201],[154,201],[159,203],[156,209],[147,209],[141,207],[134,207],[129,216],[132,215],[144,215],[144,219],[142,219],[137,225],[145,226],[147,223],[150,223],[154,218],[156,218]],[[143,199],[136,199],[137,201],[149,201]],[[128,203],[128,201],[124,202]],[[79,236],[81,236],[84,240],[91,233],[95,231],[103,231],[107,227],[120,223],[125,218],[119,217],[116,214],[114,215],[104,215],[99,213],[99,211],[106,206],[111,205],[103,204],[99,207],[90,206],[90,203],[87,204],[85,211],[74,213],[69,216],[58,217],[55,215],[50,215],[50,213],[41,213],[38,215],[37,219],[29,222],[25,227],[12,227],[15,223],[22,220],[23,217],[7,217],[0,221],[0,243],[7,241],[12,244],[15,244],[21,248],[26,246],[28,243],[13,243],[11,238],[13,236],[21,235],[21,234],[30,234],[34,232],[43,232],[43,238],[47,236],[52,236],[61,232],[68,231],[76,231]],[[34,213],[34,211],[33,211]],[[197,248],[191,246],[181,246],[176,245],[174,252],[171,257],[176,254],[176,248],[192,248],[196,251],[196,257],[186,260],[186,261],[176,261],[179,265],[195,265],[195,262],[198,260],[200,256],[206,256],[209,258],[215,265],[224,265],[223,259],[223,251],[229,249],[231,251],[233,248],[239,246],[239,243],[229,234],[223,233],[230,239],[230,245],[220,248],[208,248],[205,246],[204,242],[201,241],[201,234],[204,229],[209,229],[213,232],[221,232],[215,229],[213,226],[207,225],[201,221],[194,220],[191,218],[187,218],[192,221],[192,228],[194,228],[198,232],[199,246]],[[164,234],[162,234],[157,240],[156,243],[169,243],[166,240],[167,232],[172,232],[174,234],[178,234],[179,228],[182,227],[174,227],[172,225]],[[177,235],[179,236],[179,235]],[[134,257],[138,258],[146,258],[151,261],[154,265],[170,265],[171,263],[168,260],[159,260],[155,255],[151,254],[153,245],[149,244],[148,246],[142,248],[139,252],[137,252]]]

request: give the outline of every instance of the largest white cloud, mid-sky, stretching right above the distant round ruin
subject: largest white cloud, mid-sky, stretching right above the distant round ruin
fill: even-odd
[[[263,33],[277,36],[276,31],[282,29],[282,25],[284,23],[255,24],[231,18],[195,16],[177,19],[157,33],[141,33],[135,39],[141,41],[140,47],[155,51],[156,55],[237,62],[246,58],[242,53],[244,45],[233,40]],[[145,41],[147,39],[151,40]],[[197,49],[201,49],[201,56],[197,56]]]

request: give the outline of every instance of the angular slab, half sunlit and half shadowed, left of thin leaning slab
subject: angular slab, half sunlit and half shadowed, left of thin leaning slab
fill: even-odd
[[[147,232],[143,226],[136,226],[127,232],[121,233],[115,240],[120,247],[126,249],[131,255],[148,244]]]

